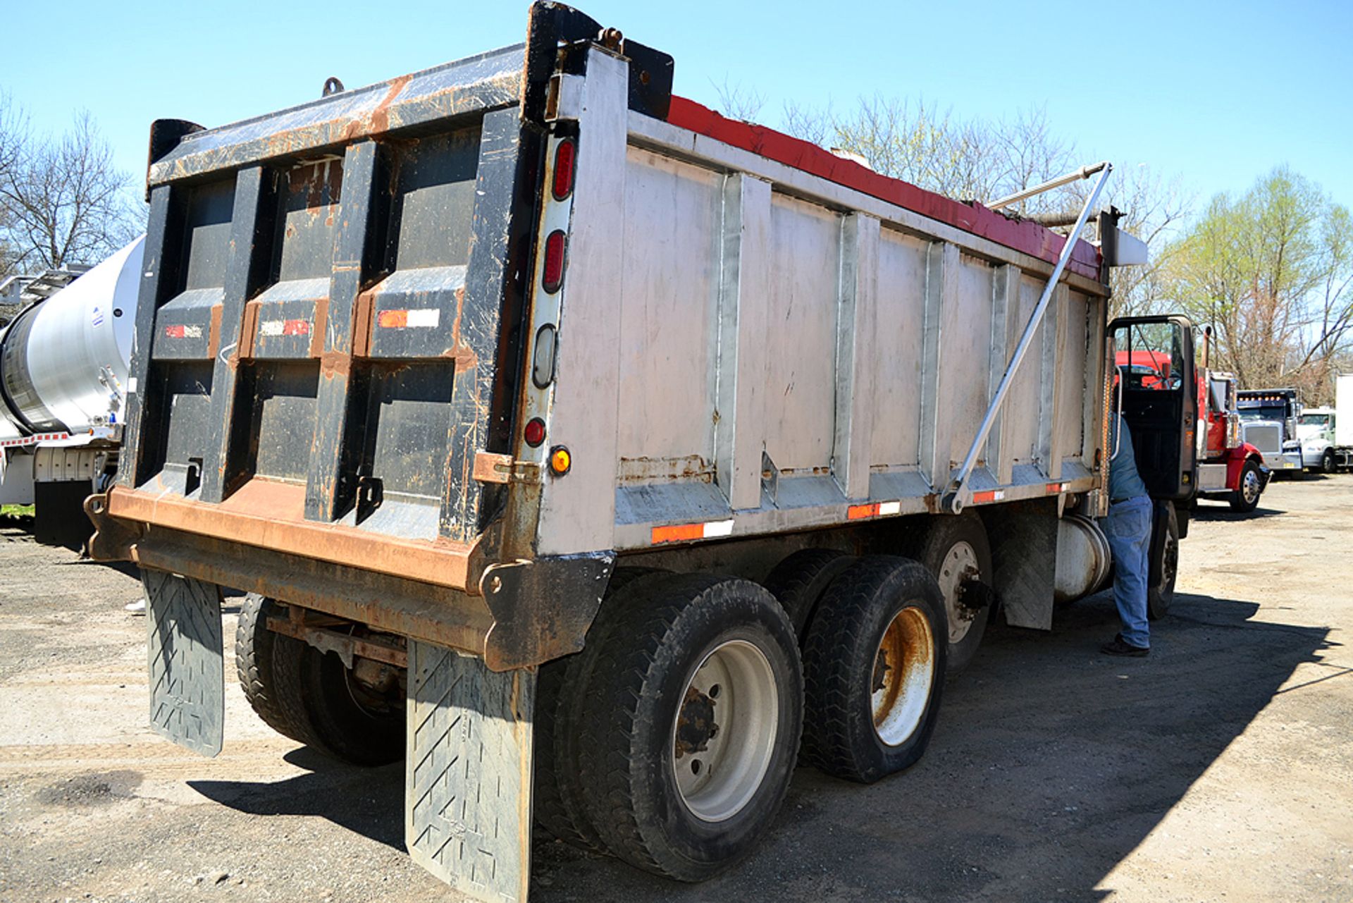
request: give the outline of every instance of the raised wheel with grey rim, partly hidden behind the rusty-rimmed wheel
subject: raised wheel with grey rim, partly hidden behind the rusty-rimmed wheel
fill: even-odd
[[[948,653],[944,670],[955,674],[973,661],[990,620],[992,547],[977,512],[954,517],[927,517],[924,532],[900,552],[921,563],[935,577],[944,600]],[[976,583],[976,585],[974,585]],[[963,602],[976,601],[976,608]]]

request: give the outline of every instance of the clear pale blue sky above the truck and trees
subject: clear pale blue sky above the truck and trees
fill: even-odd
[[[1349,0],[579,5],[671,53],[678,93],[713,106],[725,79],[760,92],[767,125],[783,100],[874,92],[961,116],[1046,106],[1086,161],[1146,162],[1200,202],[1287,162],[1353,206]],[[310,100],[330,74],[357,87],[514,43],[526,22],[520,0],[5,7],[0,91],[39,129],[88,108],[138,180],[154,118],[223,125]]]

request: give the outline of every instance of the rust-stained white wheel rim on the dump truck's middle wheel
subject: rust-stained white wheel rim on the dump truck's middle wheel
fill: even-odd
[[[870,703],[878,739],[907,742],[925,715],[934,682],[935,636],[925,613],[908,605],[893,616],[874,658]]]

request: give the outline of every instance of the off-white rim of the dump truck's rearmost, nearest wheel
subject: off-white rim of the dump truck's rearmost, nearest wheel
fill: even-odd
[[[723,822],[755,796],[779,730],[779,690],[766,654],[746,640],[717,646],[682,690],[672,773],[691,815]]]

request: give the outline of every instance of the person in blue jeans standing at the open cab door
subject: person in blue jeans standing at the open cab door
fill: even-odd
[[[1122,414],[1115,417],[1111,433],[1108,517],[1100,521],[1100,528],[1114,555],[1114,604],[1118,605],[1123,631],[1114,642],[1100,646],[1100,651],[1142,658],[1151,651],[1151,631],[1146,620],[1151,497],[1137,472],[1132,433]]]

